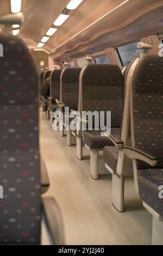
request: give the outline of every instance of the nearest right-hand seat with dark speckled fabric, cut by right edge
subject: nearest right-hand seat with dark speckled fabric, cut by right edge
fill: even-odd
[[[135,187],[153,215],[152,244],[163,245],[163,58],[141,56],[130,80],[131,146],[122,151],[133,160]]]

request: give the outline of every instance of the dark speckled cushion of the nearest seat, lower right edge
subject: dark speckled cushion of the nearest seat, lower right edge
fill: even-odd
[[[163,168],[138,170],[138,184],[141,199],[163,216],[163,199],[159,198],[159,187],[163,185]]]

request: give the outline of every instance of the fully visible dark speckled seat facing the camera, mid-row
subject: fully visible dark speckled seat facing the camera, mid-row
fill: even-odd
[[[120,136],[122,122],[122,72],[117,65],[89,64],[81,77],[82,83],[82,112],[104,112],[104,123],[106,124],[106,112],[111,112],[111,133]],[[100,122],[99,122],[100,123]],[[89,127],[89,115],[88,124]],[[91,176],[98,179],[98,167],[93,162],[98,162],[97,150],[103,150],[108,145],[114,145],[107,137],[97,132],[93,121],[92,131],[83,131],[83,141],[91,154]],[[97,127],[96,127],[97,128]],[[96,170],[95,170],[96,169]],[[93,174],[94,173],[94,174]]]

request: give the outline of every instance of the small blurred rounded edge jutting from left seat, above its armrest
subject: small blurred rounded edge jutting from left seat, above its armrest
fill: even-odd
[[[44,194],[47,192],[50,182],[49,182],[46,164],[42,157],[40,157],[40,169],[41,169],[41,194]]]

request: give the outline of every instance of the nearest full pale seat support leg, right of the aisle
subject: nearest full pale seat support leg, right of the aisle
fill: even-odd
[[[112,175],[112,204],[117,211],[124,211],[124,176]]]

